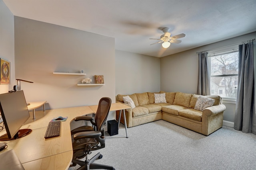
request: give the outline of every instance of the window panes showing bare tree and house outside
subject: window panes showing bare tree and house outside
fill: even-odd
[[[236,99],[238,52],[209,57],[211,95]]]

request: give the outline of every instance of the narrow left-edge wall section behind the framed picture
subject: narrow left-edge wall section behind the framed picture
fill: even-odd
[[[0,85],[0,94],[7,93],[16,85],[14,78],[14,16],[0,0],[0,58],[10,61],[10,85]]]

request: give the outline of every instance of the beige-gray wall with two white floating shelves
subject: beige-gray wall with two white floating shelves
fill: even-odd
[[[21,82],[27,102],[46,100],[46,109],[115,102],[114,38],[20,17],[14,23],[15,77],[34,82]],[[80,70],[87,75],[53,74]],[[94,83],[95,74],[105,86],[77,86],[86,77]]]

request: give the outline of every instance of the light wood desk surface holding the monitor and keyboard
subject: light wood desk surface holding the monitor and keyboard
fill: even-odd
[[[69,107],[46,110],[42,118],[36,121],[32,117],[21,129],[32,129],[32,132],[20,139],[8,141],[8,148],[13,149],[26,170],[67,170],[73,156],[70,122],[76,116],[93,113],[89,106]],[[68,117],[61,123],[59,137],[44,139],[49,121],[54,117]],[[3,135],[6,131],[1,131]]]

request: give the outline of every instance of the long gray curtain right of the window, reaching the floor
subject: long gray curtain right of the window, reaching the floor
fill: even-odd
[[[253,42],[239,45],[238,91],[234,129],[256,134]]]

